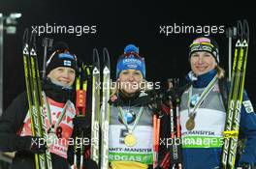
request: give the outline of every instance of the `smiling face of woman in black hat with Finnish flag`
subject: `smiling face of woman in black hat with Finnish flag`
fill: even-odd
[[[70,87],[73,85],[76,77],[76,71],[67,67],[58,67],[54,70],[50,70],[48,78],[51,82],[64,87]]]

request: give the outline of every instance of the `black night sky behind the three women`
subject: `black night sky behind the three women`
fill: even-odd
[[[83,3],[81,3],[83,2]],[[117,57],[128,43],[140,47],[146,62],[149,81],[161,81],[169,77],[183,77],[189,70],[188,45],[200,34],[159,34],[160,25],[235,25],[238,19],[246,18],[250,24],[250,45],[246,70],[245,88],[256,105],[256,21],[255,7],[245,1],[224,6],[224,1],[43,1],[0,0],[0,13],[22,13],[18,20],[17,34],[4,36],[4,108],[24,90],[24,75],[21,54],[22,34],[25,27],[35,25],[97,25],[97,33],[77,37],[75,34],[44,34],[38,37],[40,63],[43,58],[42,38],[54,42],[67,42],[71,50],[85,63],[91,63],[92,48],[108,47],[112,58],[114,78]],[[214,34],[220,45],[220,61],[228,69],[228,39],[225,34]],[[42,64],[41,64],[42,65]]]

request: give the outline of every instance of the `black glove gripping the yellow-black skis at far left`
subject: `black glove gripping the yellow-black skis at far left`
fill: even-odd
[[[47,142],[41,137],[26,136],[29,142],[27,151],[32,154],[44,154],[48,150]]]

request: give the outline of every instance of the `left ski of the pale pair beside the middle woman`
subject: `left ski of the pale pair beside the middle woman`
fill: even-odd
[[[93,49],[92,70],[92,112],[91,112],[91,159],[99,164],[100,141],[100,59],[96,48]]]

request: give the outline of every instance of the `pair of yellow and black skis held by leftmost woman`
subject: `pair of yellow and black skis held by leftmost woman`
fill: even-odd
[[[47,125],[45,121],[45,113],[43,110],[43,92],[41,86],[40,71],[38,67],[36,53],[36,35],[31,34],[30,40],[28,29],[23,35],[23,65],[25,73],[25,83],[27,99],[29,104],[29,114],[31,117],[32,135],[41,137],[44,142],[48,139]],[[41,140],[40,140],[41,143]],[[51,156],[46,154],[35,154],[36,169],[51,169]]]

